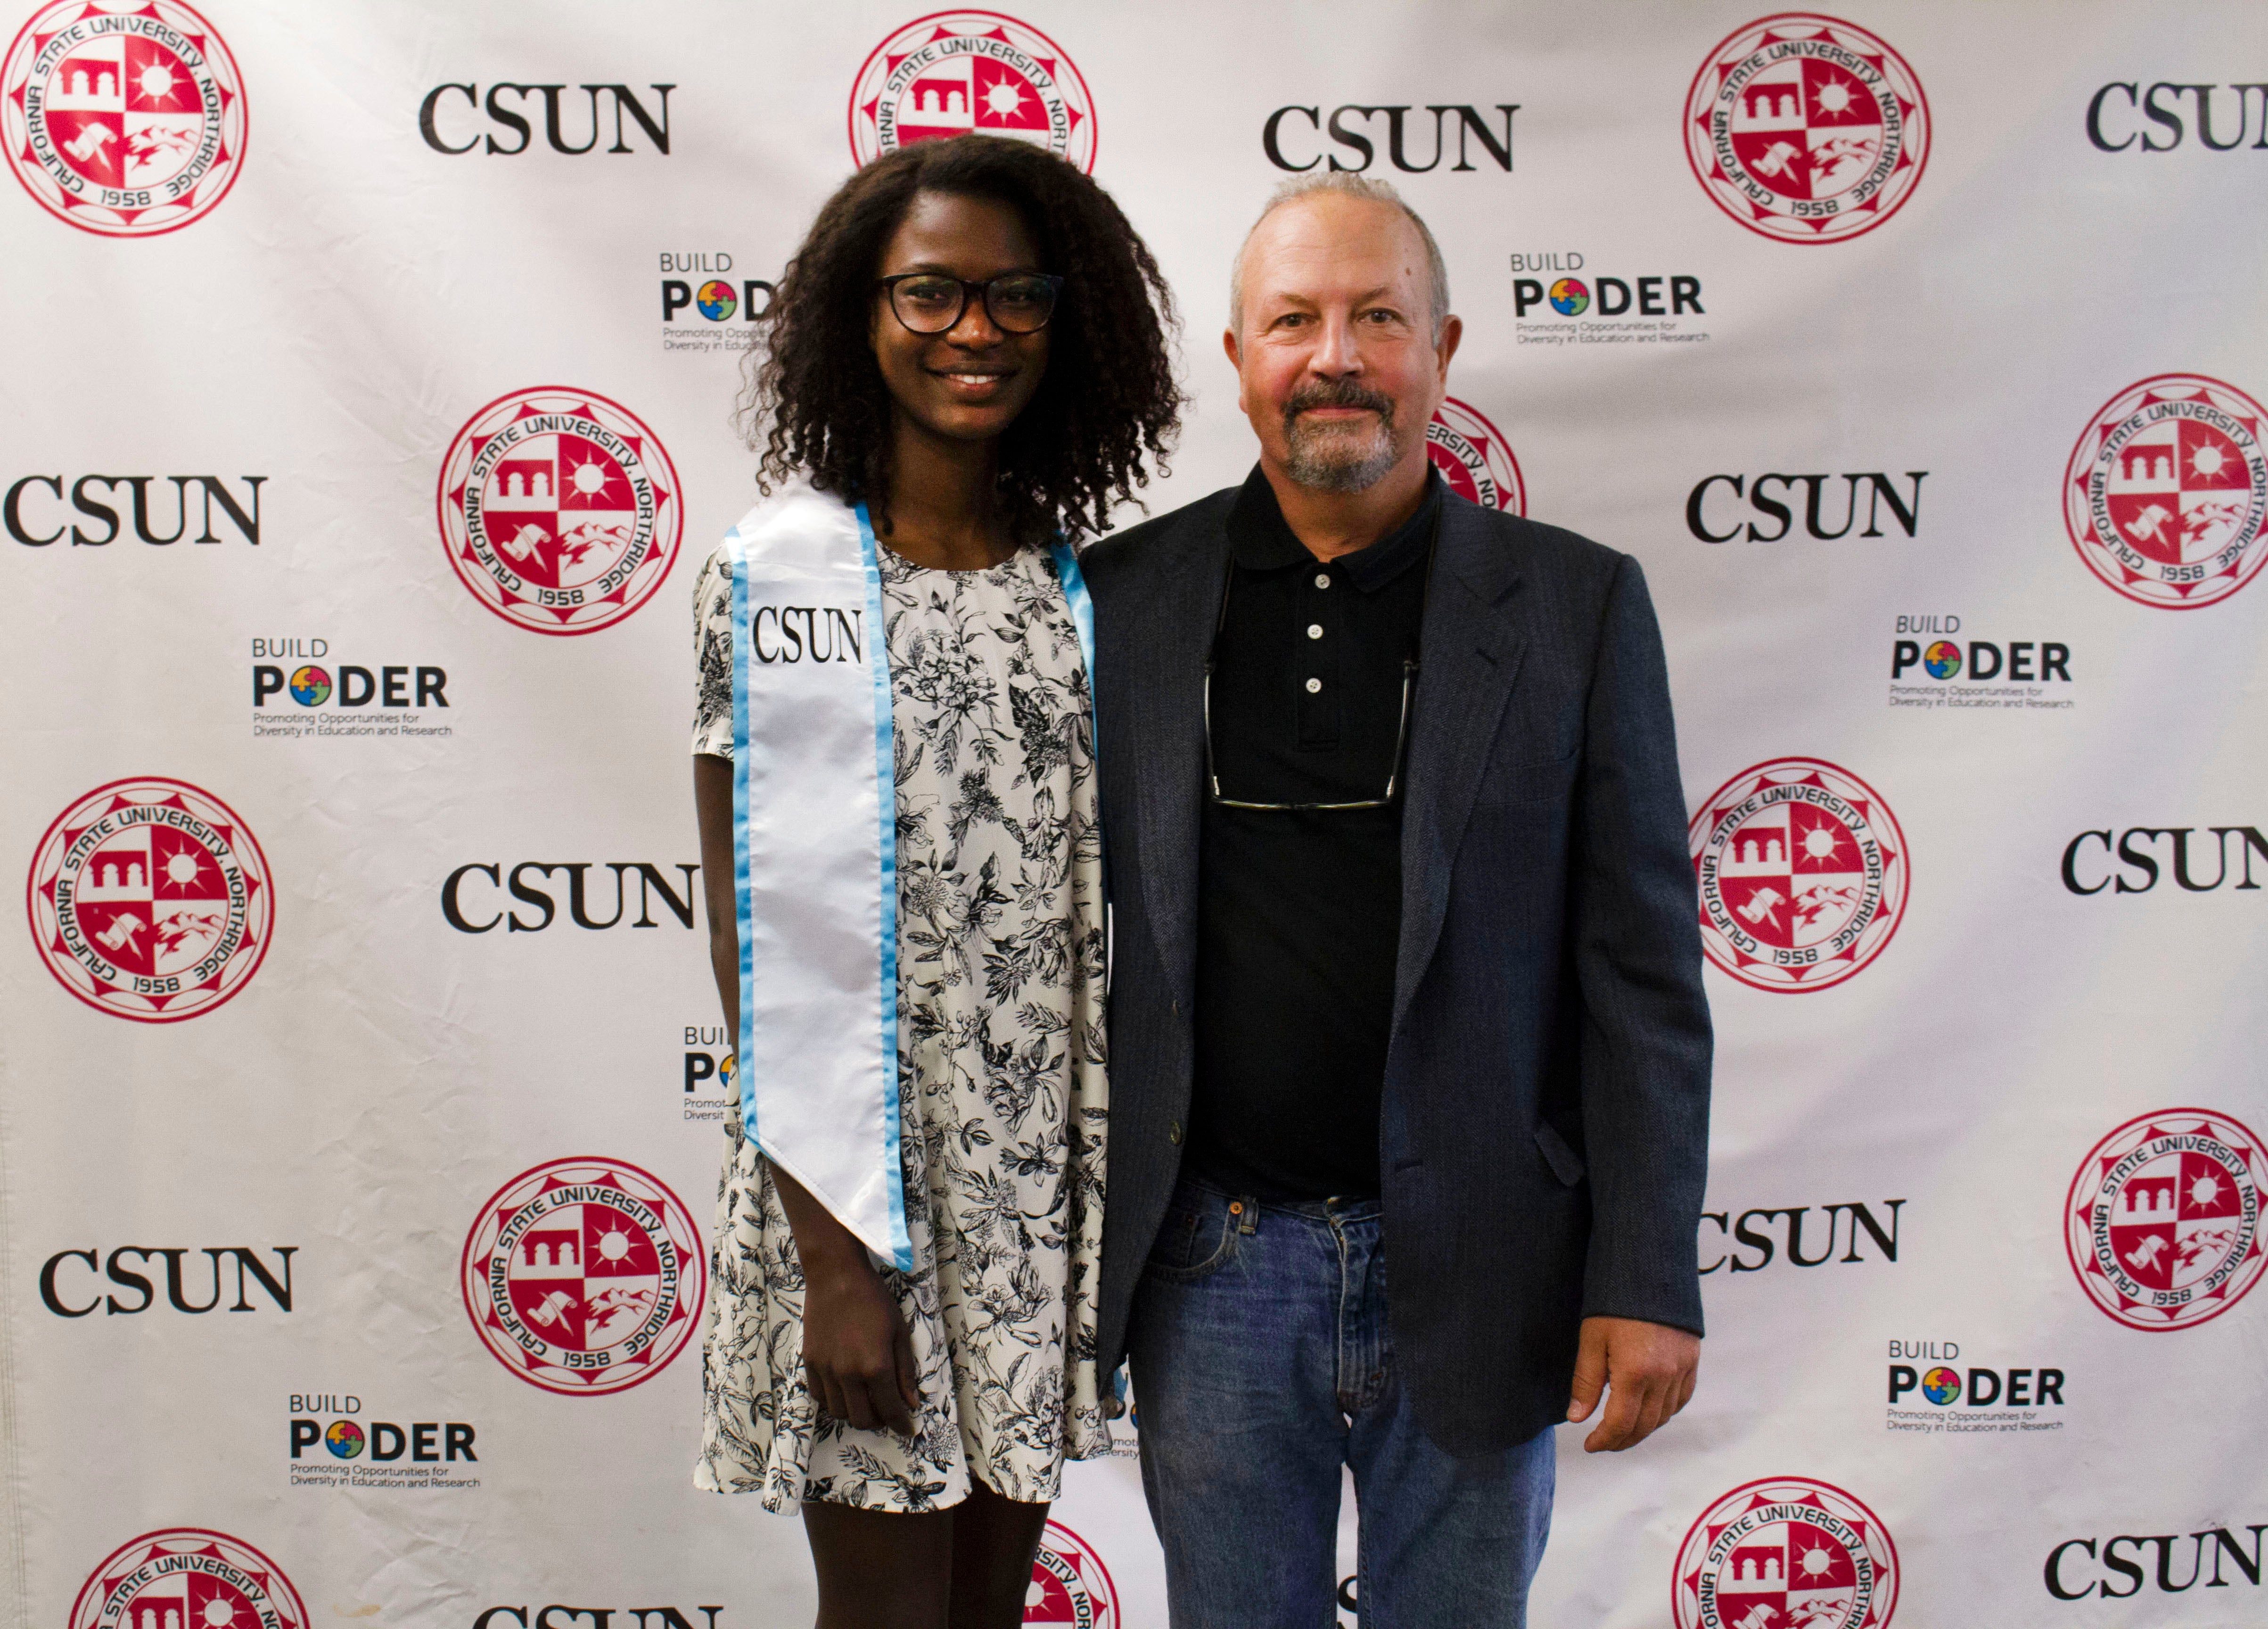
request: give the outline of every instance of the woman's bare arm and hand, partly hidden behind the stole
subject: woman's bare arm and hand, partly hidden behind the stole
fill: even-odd
[[[739,905],[733,896],[733,760],[694,753],[701,821],[701,894],[710,919],[710,969],[739,1057]],[[735,1064],[737,1069],[744,1064]],[[737,1114],[735,1105],[728,1112]],[[848,1227],[778,1166],[771,1182],[803,1257],[803,1370],[821,1409],[862,1429],[912,1432],[921,1407],[914,1341],[873,1261]]]

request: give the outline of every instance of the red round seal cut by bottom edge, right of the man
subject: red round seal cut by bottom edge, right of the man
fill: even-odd
[[[1898,1547],[1833,1482],[1765,1477],[1710,1504],[1669,1577],[1678,1629],[1887,1629]]]

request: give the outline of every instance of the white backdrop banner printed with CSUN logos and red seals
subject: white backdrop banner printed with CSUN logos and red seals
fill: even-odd
[[[1440,467],[1651,579],[1710,1339],[1563,1434],[1538,1624],[2268,1620],[2259,5],[5,20],[11,1620],[810,1620],[692,1486],[687,599],[782,261],[962,129],[1179,290],[1154,513],[1254,456],[1245,225],[1361,170],[1449,256]],[[1073,1468],[1030,1622],[1163,1613]]]

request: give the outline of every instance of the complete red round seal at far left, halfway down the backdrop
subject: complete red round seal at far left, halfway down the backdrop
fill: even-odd
[[[168,776],[111,780],[57,814],[25,905],[64,989],[141,1023],[222,1005],[252,982],[274,921],[259,839],[211,792]]]

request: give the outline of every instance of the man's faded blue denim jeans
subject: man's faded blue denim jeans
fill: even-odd
[[[1173,1629],[1331,1629],[1340,1466],[1365,1629],[1526,1622],[1551,1432],[1452,1459],[1417,1427],[1377,1200],[1259,1205],[1182,1178],[1127,1354]]]

